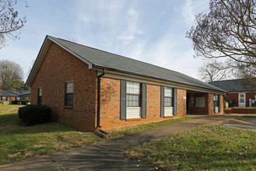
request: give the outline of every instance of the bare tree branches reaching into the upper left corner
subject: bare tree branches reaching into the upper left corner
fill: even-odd
[[[16,0],[0,0],[0,48],[5,46],[6,37],[19,39],[19,30],[25,26],[26,17],[18,18],[18,12],[13,9]]]

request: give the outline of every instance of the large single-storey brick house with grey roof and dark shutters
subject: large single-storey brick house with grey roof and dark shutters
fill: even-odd
[[[50,106],[54,120],[84,131],[223,113],[226,94],[179,72],[50,36],[26,86],[32,104]]]

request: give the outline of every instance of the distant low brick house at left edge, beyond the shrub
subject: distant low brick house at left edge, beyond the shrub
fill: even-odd
[[[30,99],[30,91],[0,90],[0,103],[11,103],[12,100],[25,101]]]

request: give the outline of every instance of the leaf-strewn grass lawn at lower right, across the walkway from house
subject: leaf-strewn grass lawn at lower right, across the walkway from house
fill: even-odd
[[[163,170],[255,170],[256,132],[204,125],[124,155]]]

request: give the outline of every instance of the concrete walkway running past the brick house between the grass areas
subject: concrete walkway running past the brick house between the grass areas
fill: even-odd
[[[234,117],[237,116],[195,116],[192,120],[184,120],[139,134],[101,141],[85,148],[74,148],[65,152],[14,162],[0,166],[0,170],[58,170],[59,166],[77,170],[153,170],[148,166],[142,166],[139,162],[126,159],[121,152],[198,125],[213,124]]]

